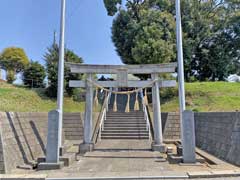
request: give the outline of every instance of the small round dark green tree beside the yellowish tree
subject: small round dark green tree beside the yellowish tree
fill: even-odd
[[[44,79],[46,72],[44,67],[38,62],[30,62],[23,73],[24,85],[32,88],[39,88],[44,86]]]

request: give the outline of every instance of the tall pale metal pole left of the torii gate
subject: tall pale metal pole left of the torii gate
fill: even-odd
[[[65,40],[65,15],[66,0],[62,0],[61,5],[61,23],[60,23],[60,41],[59,41],[59,61],[58,61],[58,90],[57,90],[57,109],[59,110],[59,133],[58,141],[62,147],[62,120],[63,120],[63,96],[64,96],[64,40]]]

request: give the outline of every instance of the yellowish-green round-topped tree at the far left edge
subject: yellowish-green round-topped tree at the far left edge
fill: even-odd
[[[15,74],[22,72],[29,64],[29,59],[22,48],[9,47],[0,55],[0,66],[7,71],[7,80],[12,83]]]

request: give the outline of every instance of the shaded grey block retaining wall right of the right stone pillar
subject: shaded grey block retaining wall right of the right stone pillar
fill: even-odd
[[[240,165],[240,112],[195,113],[199,148]]]

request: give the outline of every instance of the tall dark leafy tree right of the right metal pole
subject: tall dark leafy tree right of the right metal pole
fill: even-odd
[[[238,48],[230,48],[233,33],[228,27],[237,11],[223,0],[183,2],[185,77],[224,80],[237,66]]]

